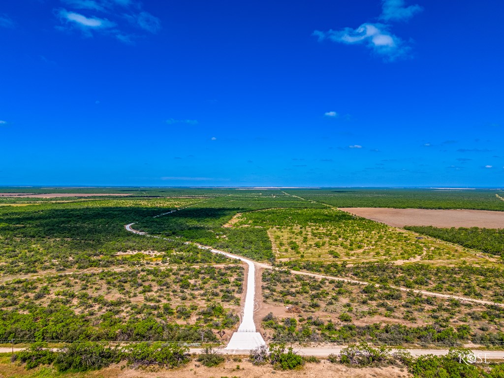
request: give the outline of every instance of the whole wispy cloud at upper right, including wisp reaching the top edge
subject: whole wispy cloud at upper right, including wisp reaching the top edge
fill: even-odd
[[[411,47],[403,39],[390,32],[390,22],[407,21],[422,8],[418,5],[405,7],[403,0],[384,0],[382,7],[379,19],[383,23],[366,22],[356,29],[343,28],[327,32],[316,30],[313,35],[318,37],[319,41],[329,39],[347,45],[365,45],[385,61],[408,57]]]

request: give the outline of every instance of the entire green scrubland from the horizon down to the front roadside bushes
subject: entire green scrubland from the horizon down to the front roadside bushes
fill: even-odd
[[[187,346],[229,340],[239,323],[244,267],[187,241],[273,265],[262,271],[261,291],[272,313],[258,327],[280,344],[256,356],[270,369],[317,362],[296,355],[289,343],[504,345],[502,307],[397,288],[503,303],[501,230],[405,230],[335,208],[504,210],[495,191],[5,189],[27,192],[75,194],[0,197],[6,205],[0,206],[0,339],[32,343],[16,363],[41,374],[116,363],[182,368],[191,360]],[[156,237],[125,230],[132,222]],[[332,362],[382,363],[375,352],[353,348]],[[215,369],[229,360],[212,349],[201,356],[196,363]],[[451,357],[429,358],[393,364],[418,376],[432,363],[450,368]]]

